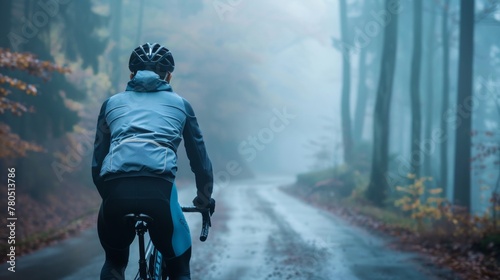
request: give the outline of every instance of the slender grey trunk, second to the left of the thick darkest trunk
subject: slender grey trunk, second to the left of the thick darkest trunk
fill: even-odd
[[[424,139],[432,139],[432,123],[433,123],[433,112],[434,112],[434,30],[435,30],[435,22],[436,16],[435,5],[431,10],[430,20],[429,20],[429,31],[427,34],[427,97],[424,104],[428,104],[426,113],[425,113],[425,132]],[[424,148],[425,149],[425,148]],[[425,159],[423,166],[423,173],[425,176],[433,176],[432,174],[432,153],[431,151],[424,150]]]

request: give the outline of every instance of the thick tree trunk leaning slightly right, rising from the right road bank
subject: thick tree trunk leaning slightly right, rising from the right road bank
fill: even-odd
[[[386,0],[386,7],[390,5],[391,1]],[[397,51],[397,14],[391,15],[391,20],[384,31],[380,79],[373,121],[372,171],[366,193],[367,198],[379,206],[384,204],[388,188],[386,174],[389,164],[389,117]]]

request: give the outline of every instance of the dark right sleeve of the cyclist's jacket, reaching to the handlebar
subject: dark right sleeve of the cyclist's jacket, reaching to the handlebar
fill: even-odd
[[[189,158],[191,170],[196,177],[197,195],[203,202],[209,201],[212,196],[214,176],[212,171],[212,163],[208,158],[203,136],[201,135],[200,127],[194,115],[191,105],[184,100],[187,119],[184,125],[183,137],[186,154]]]

